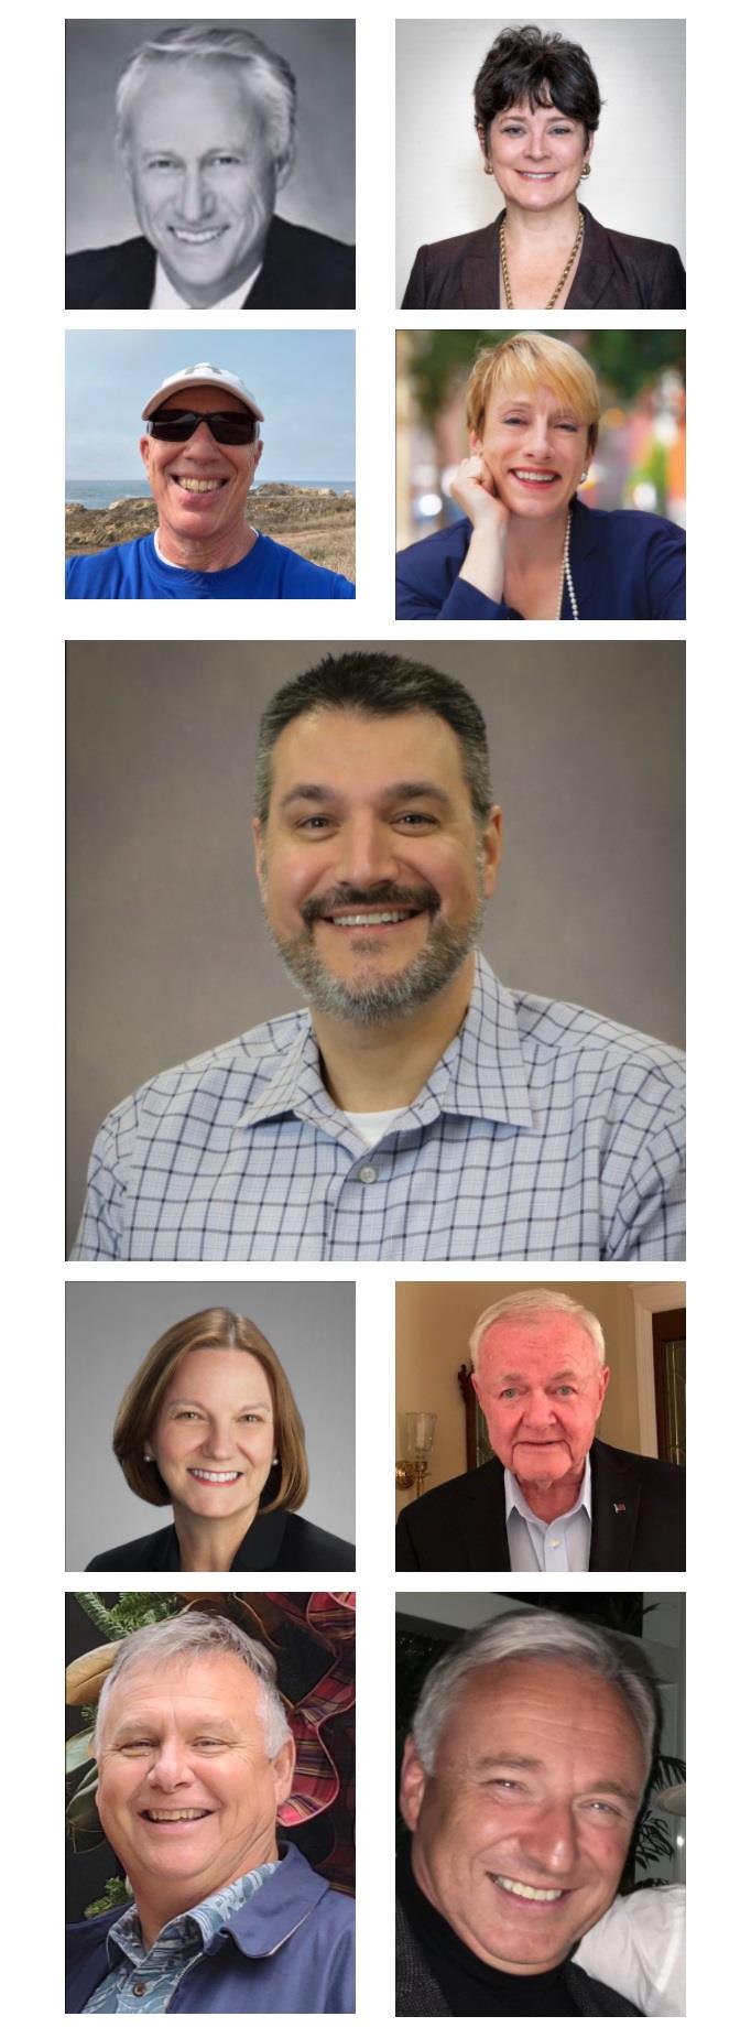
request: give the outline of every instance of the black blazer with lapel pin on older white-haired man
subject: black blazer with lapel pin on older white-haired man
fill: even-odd
[[[594,1439],[590,1571],[686,1569],[686,1473]],[[511,1571],[503,1465],[493,1457],[403,1508],[397,1571]]]

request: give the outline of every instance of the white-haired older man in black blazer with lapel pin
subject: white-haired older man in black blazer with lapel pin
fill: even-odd
[[[684,1571],[686,1473],[594,1435],[611,1367],[570,1294],[490,1302],[472,1388],[493,1455],[401,1510],[401,1571]]]

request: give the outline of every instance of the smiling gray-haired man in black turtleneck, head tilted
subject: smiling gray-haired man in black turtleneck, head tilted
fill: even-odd
[[[588,1975],[586,1934],[617,1895],[655,1730],[641,1651],[600,1628],[503,1614],[446,1651],[401,1767],[397,2016],[641,2014]]]

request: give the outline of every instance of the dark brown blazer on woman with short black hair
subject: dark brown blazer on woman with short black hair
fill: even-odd
[[[609,232],[584,212],[584,243],[566,312],[684,312],[686,269],[666,240]],[[497,312],[501,306],[499,218],[474,234],[417,249],[403,310]]]

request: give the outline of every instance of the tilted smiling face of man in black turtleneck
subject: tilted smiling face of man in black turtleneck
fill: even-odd
[[[436,1775],[407,1740],[415,1879],[480,1961],[545,1973],[613,1903],[643,1783],[641,1736],[600,1677],[482,1665],[458,1687]]]

